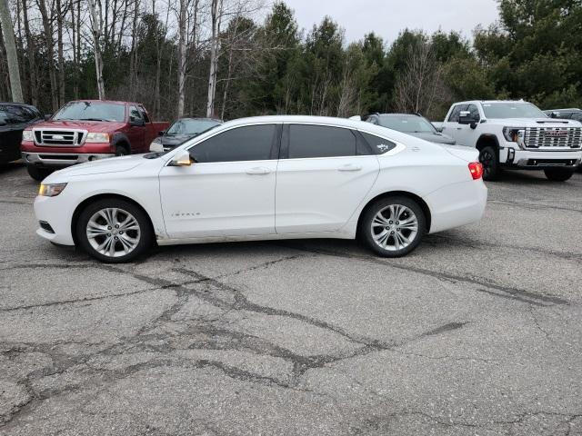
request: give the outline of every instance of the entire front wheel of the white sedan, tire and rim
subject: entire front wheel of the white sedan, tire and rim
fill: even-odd
[[[76,223],[76,237],[86,253],[105,263],[125,263],[146,252],[152,230],[135,204],[104,199],[89,204]]]

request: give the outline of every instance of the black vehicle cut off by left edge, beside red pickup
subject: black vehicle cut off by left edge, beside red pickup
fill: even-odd
[[[43,119],[35,106],[0,103],[0,163],[20,159],[22,131]]]

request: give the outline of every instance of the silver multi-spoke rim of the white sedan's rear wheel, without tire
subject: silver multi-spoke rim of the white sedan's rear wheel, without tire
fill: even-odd
[[[413,243],[418,234],[416,214],[402,204],[390,204],[376,213],[370,227],[372,239],[382,249],[396,252]]]

